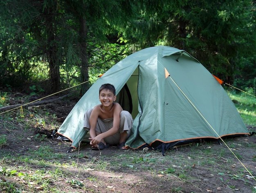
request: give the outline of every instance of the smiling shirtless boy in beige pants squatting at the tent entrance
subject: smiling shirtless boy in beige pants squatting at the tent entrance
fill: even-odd
[[[132,115],[115,102],[116,91],[112,84],[103,84],[99,89],[101,104],[85,113],[84,128],[90,131],[90,145],[93,150],[119,144],[125,150],[125,142],[132,128]]]

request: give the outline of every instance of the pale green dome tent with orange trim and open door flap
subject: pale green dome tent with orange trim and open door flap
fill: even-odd
[[[188,140],[248,134],[221,84],[184,50],[142,49],[115,64],[77,102],[59,134],[76,148],[87,131],[84,113],[99,104],[99,87],[113,84],[117,102],[134,118],[126,146],[168,149]]]

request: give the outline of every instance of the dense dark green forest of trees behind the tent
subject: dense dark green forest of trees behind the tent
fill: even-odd
[[[255,94],[255,9],[253,0],[1,0],[0,90],[85,82],[82,95],[127,55],[166,45]]]

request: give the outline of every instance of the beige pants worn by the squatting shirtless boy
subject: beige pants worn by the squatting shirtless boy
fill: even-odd
[[[84,124],[83,124],[84,129],[86,129],[89,132],[90,132],[89,118],[91,113],[92,113],[92,109],[89,109],[85,112]],[[121,136],[121,133],[123,132],[127,132],[129,137],[131,134],[132,122],[133,122],[132,115],[128,111],[121,111],[119,131],[114,135],[104,138],[105,142],[110,145],[119,144],[120,136]],[[110,119],[98,118],[95,131],[99,133],[104,133],[109,129],[111,129],[112,127],[113,127],[113,118],[110,118]]]

